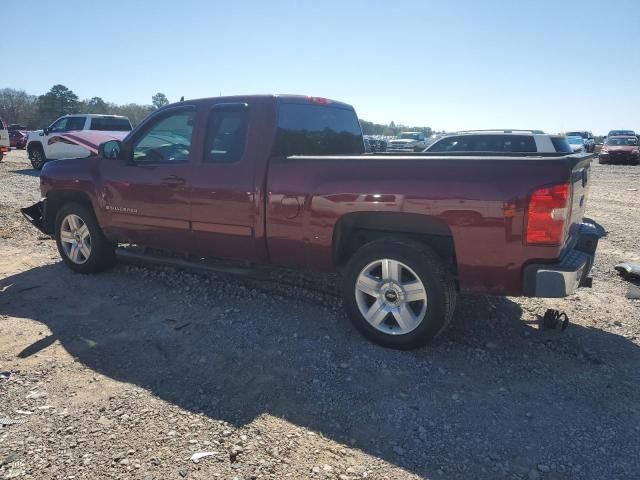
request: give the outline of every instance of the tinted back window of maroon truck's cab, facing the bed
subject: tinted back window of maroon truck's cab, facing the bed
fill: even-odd
[[[353,109],[282,103],[275,150],[283,155],[363,153],[362,129]]]

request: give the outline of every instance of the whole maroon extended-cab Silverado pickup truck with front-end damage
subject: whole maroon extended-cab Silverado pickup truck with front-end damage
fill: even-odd
[[[436,336],[458,293],[589,284],[591,155],[365,154],[354,109],[317,97],[184,101],[88,158],[47,163],[23,209],[80,273],[118,243],[340,273],[370,339]]]

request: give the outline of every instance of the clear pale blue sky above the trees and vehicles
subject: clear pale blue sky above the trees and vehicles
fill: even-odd
[[[379,123],[640,130],[635,0],[29,3],[2,0],[18,16],[0,29],[16,65],[0,88],[116,103],[300,93]]]

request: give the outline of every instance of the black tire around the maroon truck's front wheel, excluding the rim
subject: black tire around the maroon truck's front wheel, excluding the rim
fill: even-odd
[[[63,246],[61,239],[63,228],[62,223],[68,215],[76,215],[79,217],[82,220],[82,223],[86,225],[89,230],[91,245],[90,254],[83,263],[77,263],[71,260]],[[86,205],[75,202],[67,203],[58,210],[55,221],[55,238],[60,257],[74,272],[97,273],[109,268],[115,263],[116,244],[109,241],[104,236],[93,210]]]

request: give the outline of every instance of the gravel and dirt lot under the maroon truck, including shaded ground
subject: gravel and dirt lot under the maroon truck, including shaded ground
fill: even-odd
[[[592,290],[462,298],[437,342],[397,352],[302,287],[72,274],[18,213],[38,176],[11,152],[0,423],[23,423],[0,427],[0,478],[640,478],[640,301],[612,269],[640,261],[639,189],[640,168],[594,165],[588,214],[609,234]],[[539,328],[548,307],[564,333]]]

